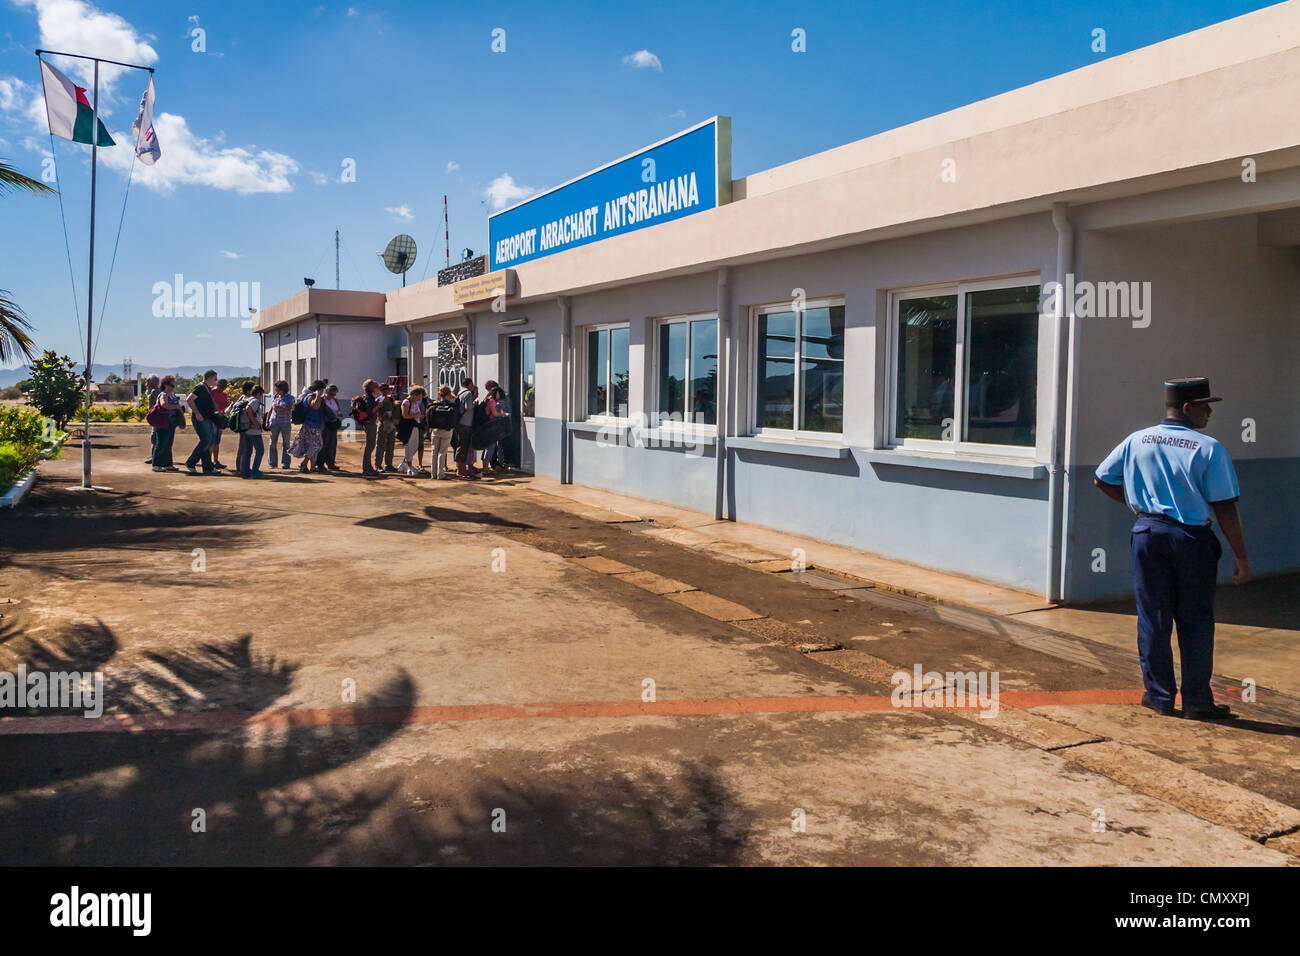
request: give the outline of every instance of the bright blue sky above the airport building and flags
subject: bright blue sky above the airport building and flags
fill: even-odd
[[[0,156],[39,176],[49,152],[36,47],[153,65],[162,157],[136,165],[95,360],[255,365],[238,319],[153,317],[155,282],[260,282],[263,306],[304,276],[333,287],[337,226],[343,287],[385,290],[396,233],[420,246],[411,281],[443,264],[443,194],[455,261],[494,204],[714,114],[741,177],[1268,5],[0,0]],[[114,133],[146,75],[104,77]],[[90,151],[53,150],[84,321]],[[100,152],[96,312],[130,155]],[[40,346],[82,356],[53,196],[0,199],[0,289]]]

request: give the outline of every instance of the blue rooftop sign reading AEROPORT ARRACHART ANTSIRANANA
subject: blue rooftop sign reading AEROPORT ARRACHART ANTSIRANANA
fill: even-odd
[[[488,220],[502,269],[731,202],[731,118],[715,116]]]

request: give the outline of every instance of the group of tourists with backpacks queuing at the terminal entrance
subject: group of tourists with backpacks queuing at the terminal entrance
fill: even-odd
[[[264,457],[268,468],[289,470],[296,458],[302,472],[342,472],[337,455],[338,436],[344,428],[350,433],[355,429],[365,433],[361,455],[365,476],[391,472],[429,475],[436,480],[478,479],[506,467],[502,442],[511,433],[511,407],[504,390],[491,380],[485,382],[480,399],[478,386],[469,378],[462,380],[459,392],[441,385],[429,395],[416,385],[403,398],[398,398],[389,382],[367,378],[360,394],[346,407],[339,401],[338,385],[328,380],[313,381],[296,397],[286,381],[277,381],[269,397],[261,385],[246,381],[234,401],[226,392],[228,385],[208,369],[203,381],[182,399],[176,392],[176,376],[151,376],[146,381],[146,420],[153,428],[152,453],[146,463],[152,464],[153,471],[179,471],[172,447],[177,429],[186,427],[187,411],[196,438],[185,460],[191,475],[199,473],[200,464],[204,475],[226,470],[221,462],[224,432],[238,438],[234,468],[239,477],[261,477]],[[394,466],[398,442],[402,442],[403,455]],[[429,468],[424,464],[426,453]],[[454,472],[447,463],[448,454],[454,457]],[[476,457],[481,460],[476,462]]]

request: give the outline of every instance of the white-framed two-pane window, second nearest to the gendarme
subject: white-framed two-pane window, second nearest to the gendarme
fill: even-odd
[[[759,431],[844,432],[844,303],[757,313]]]

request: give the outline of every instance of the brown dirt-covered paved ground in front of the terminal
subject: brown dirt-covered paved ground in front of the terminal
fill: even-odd
[[[363,479],[356,446],[347,475],[155,473],[147,428],[92,434],[110,490],[70,490],[69,446],[0,515],[0,670],[100,671],[107,700],[0,714],[0,864],[1297,860],[1295,726],[1157,717],[1122,656],[810,587],[526,477]],[[892,706],[918,663],[996,671],[1009,702]]]

